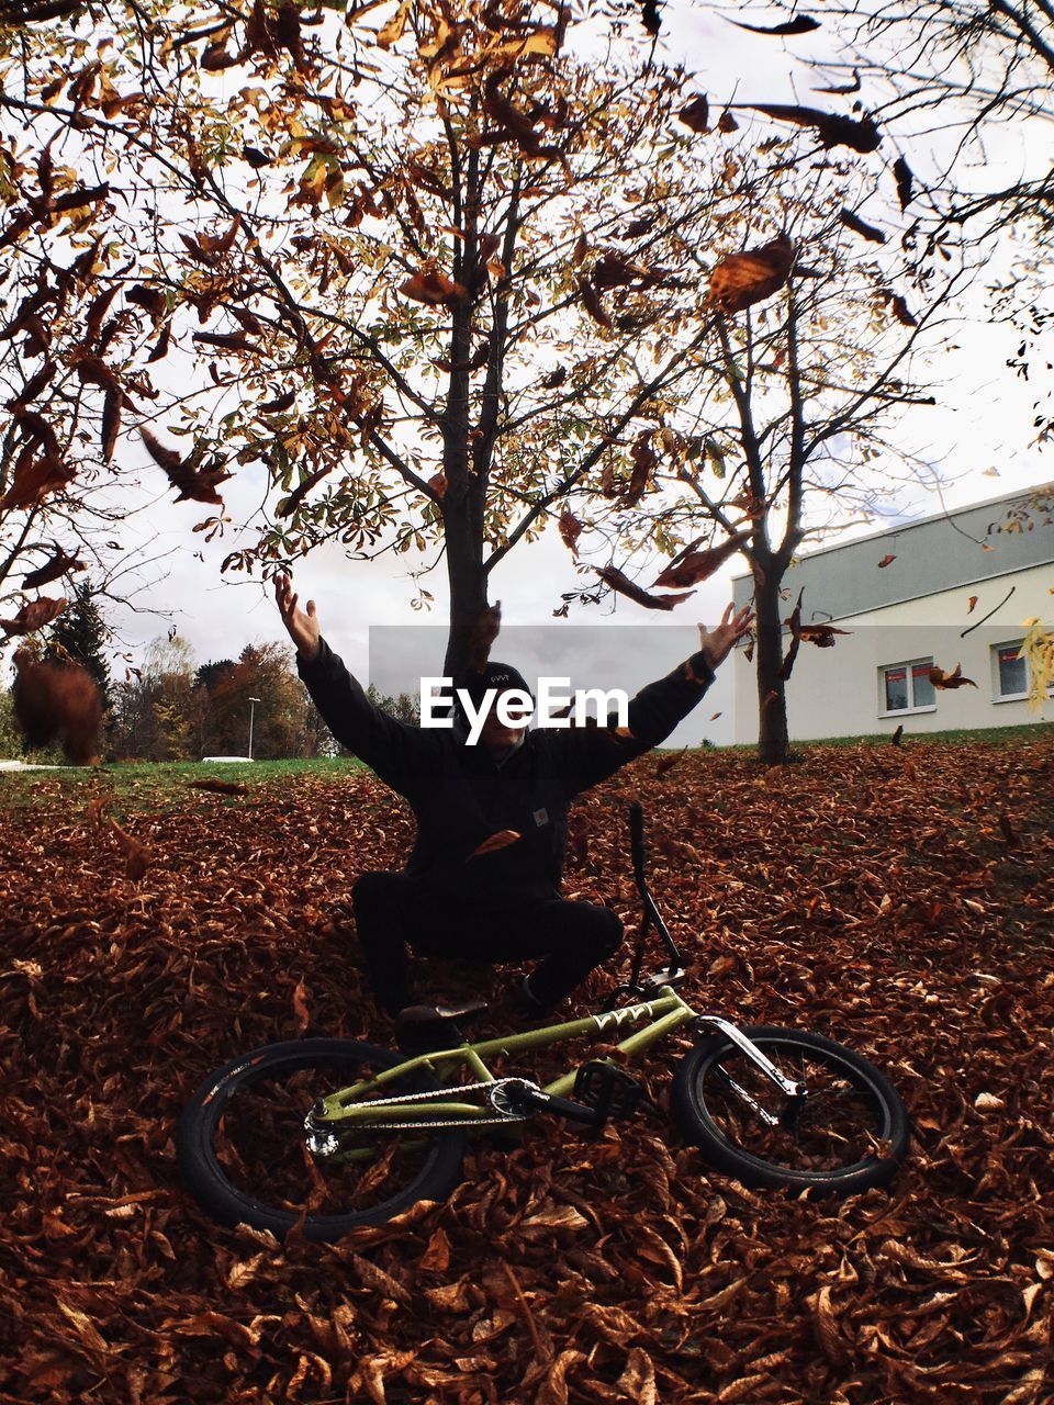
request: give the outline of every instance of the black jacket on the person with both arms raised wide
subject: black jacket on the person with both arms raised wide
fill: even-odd
[[[631,700],[628,736],[534,728],[499,764],[461,731],[410,726],[374,707],[325,639],[298,670],[333,736],[410,802],[417,839],[406,873],[492,908],[559,896],[571,799],[665,740],[714,681],[693,653]],[[500,830],[521,837],[472,857]]]

